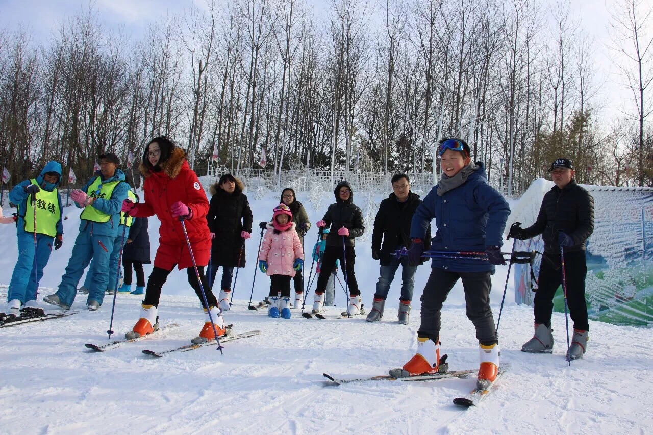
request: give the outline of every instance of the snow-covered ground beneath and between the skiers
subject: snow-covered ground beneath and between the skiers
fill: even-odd
[[[278,196],[260,201],[249,197],[256,226],[270,217]],[[313,222],[332,199],[325,195],[324,205],[313,210],[308,197],[300,195]],[[362,204],[360,200],[355,202]],[[42,288],[40,298],[56,291],[72,250],[79,212],[66,208],[66,213],[65,243],[46,268],[42,286],[50,288]],[[151,218],[153,248],[157,230],[158,221]],[[240,270],[234,306],[225,319],[235,325],[234,332],[261,334],[225,344],[224,355],[214,346],[162,359],[140,353],[182,346],[199,332],[203,317],[185,272],[170,275],[159,307],[161,325],[180,326],[141,342],[106,353],[85,349],[84,343],[107,341],[110,297],[99,312],[88,312],[85,298],[78,295],[73,309],[80,314],[1,330],[0,433],[650,432],[653,330],[590,322],[588,354],[569,367],[564,359],[565,318],[556,313],[554,354],[522,353],[520,346],[532,335],[532,310],[514,304],[512,280],[500,327],[501,361],[510,368],[478,408],[463,411],[451,404],[473,388],[473,378],[325,386],[323,372],[340,378],[385,374],[411,357],[419,327],[418,300],[430,265],[418,272],[410,325],[396,323],[399,277],[378,323],[367,323],[364,317],[306,320],[296,310],[290,320],[271,319],[246,308],[259,234],[255,231],[247,241],[247,268]],[[14,227],[0,227],[0,284],[5,285],[0,300],[5,299],[16,259],[15,237]],[[317,230],[311,229],[307,251],[315,238]],[[378,266],[370,257],[369,240],[359,242],[356,250],[363,301],[371,305]],[[308,266],[310,261],[307,271]],[[495,319],[507,267],[498,269],[492,278]],[[268,287],[268,278],[259,273],[253,300],[261,300]],[[336,290],[340,307],[328,308],[334,314],[345,303],[342,290]],[[449,354],[452,370],[478,365],[477,342],[463,303],[462,287],[456,287],[443,312],[443,352]],[[114,338],[131,329],[139,304],[140,297],[118,295]]]

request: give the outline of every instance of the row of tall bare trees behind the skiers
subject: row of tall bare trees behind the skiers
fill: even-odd
[[[275,170],[437,174],[434,144],[458,136],[509,189],[561,155],[581,182],[651,185],[645,7],[614,12],[609,80],[633,94],[616,118],[600,116],[597,44],[570,0],[332,0],[321,14],[207,0],[139,40],[91,8],[45,43],[0,31],[0,159],[16,181],[49,159],[84,178],[99,153],[138,159],[167,135],[197,168],[214,150],[218,165],[258,167],[264,149]]]

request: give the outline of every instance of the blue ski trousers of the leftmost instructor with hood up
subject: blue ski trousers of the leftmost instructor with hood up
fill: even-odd
[[[54,237],[37,234],[36,259],[34,258],[34,234],[18,233],[18,261],[9,283],[7,300],[18,299],[25,304],[37,298],[43,268],[48,264]]]

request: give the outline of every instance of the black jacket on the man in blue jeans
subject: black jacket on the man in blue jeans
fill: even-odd
[[[410,246],[410,225],[415,215],[415,210],[422,201],[417,193],[409,192],[406,202],[397,201],[396,195],[390,193],[389,197],[381,201],[379,211],[374,219],[374,232],[372,233],[372,250],[379,251],[380,263],[390,265],[394,250]],[[424,239],[424,249],[431,246],[431,227],[426,229],[427,238]],[[381,245],[383,240],[383,245]]]

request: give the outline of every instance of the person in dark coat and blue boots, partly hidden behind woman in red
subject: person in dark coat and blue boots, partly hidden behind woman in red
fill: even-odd
[[[138,200],[138,195],[136,195],[136,200]],[[136,290],[132,291],[131,294],[144,295],[145,273],[143,272],[143,265],[151,263],[147,217],[135,217],[134,222],[129,227],[129,234],[127,234],[127,240],[125,240],[125,247],[123,248],[122,263],[125,279],[118,291],[120,293],[131,291],[131,268],[133,266],[136,272]]]

